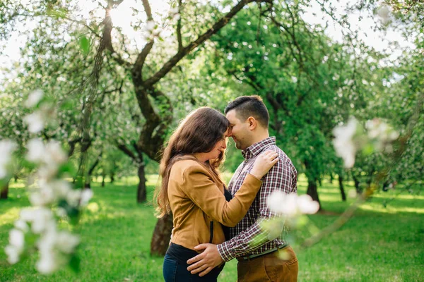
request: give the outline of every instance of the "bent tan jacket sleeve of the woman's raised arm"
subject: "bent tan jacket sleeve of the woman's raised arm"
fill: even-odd
[[[262,181],[248,174],[230,202],[220,192],[204,168],[191,166],[184,171],[182,190],[190,200],[212,219],[233,227],[246,215],[261,188]]]

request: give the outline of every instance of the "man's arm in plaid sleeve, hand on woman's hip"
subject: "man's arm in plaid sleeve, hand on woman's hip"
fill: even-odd
[[[270,234],[263,231],[260,227],[262,221],[271,219],[276,215],[268,209],[266,200],[274,190],[282,190],[285,193],[296,192],[296,179],[297,173],[293,171],[290,164],[283,160],[278,161],[269,173],[264,176],[261,190],[257,195],[259,197],[260,212],[257,222],[231,240],[220,245],[201,244],[196,246],[196,250],[205,250],[200,255],[187,261],[187,264],[192,264],[187,269],[192,271],[192,274],[202,271],[199,276],[204,276],[223,261],[247,255],[249,252],[261,247],[261,245],[273,240],[274,238],[271,238]],[[194,264],[194,262],[196,263]]]

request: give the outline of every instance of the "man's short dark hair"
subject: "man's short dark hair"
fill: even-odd
[[[268,128],[268,109],[258,95],[237,97],[225,107],[224,113],[227,114],[231,110],[235,110],[240,121],[245,121],[249,116],[253,116],[264,128]]]

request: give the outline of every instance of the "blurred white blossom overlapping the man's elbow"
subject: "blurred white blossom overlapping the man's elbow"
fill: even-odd
[[[310,195],[298,196],[295,193],[285,194],[282,191],[273,191],[267,199],[267,204],[271,212],[287,216],[315,214],[319,209],[318,202],[313,201]]]

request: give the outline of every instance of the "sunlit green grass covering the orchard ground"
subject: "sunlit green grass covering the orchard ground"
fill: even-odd
[[[149,178],[151,200],[155,177]],[[299,193],[305,193],[305,178]],[[346,190],[353,189],[351,185]],[[83,214],[78,233],[81,271],[62,269],[51,276],[37,274],[34,255],[16,265],[6,262],[8,231],[28,198],[22,183],[12,183],[9,199],[0,202],[0,281],[163,281],[163,258],[149,255],[156,219],[151,204],[136,204],[136,178],[101,188]],[[424,196],[380,192],[365,202],[341,229],[298,252],[299,281],[424,281]],[[309,216],[319,228],[327,226],[353,200],[341,202],[334,184],[319,187],[329,213]],[[333,215],[328,215],[333,214]],[[305,231],[301,234],[305,237]],[[218,281],[235,281],[237,261],[229,262]]]

